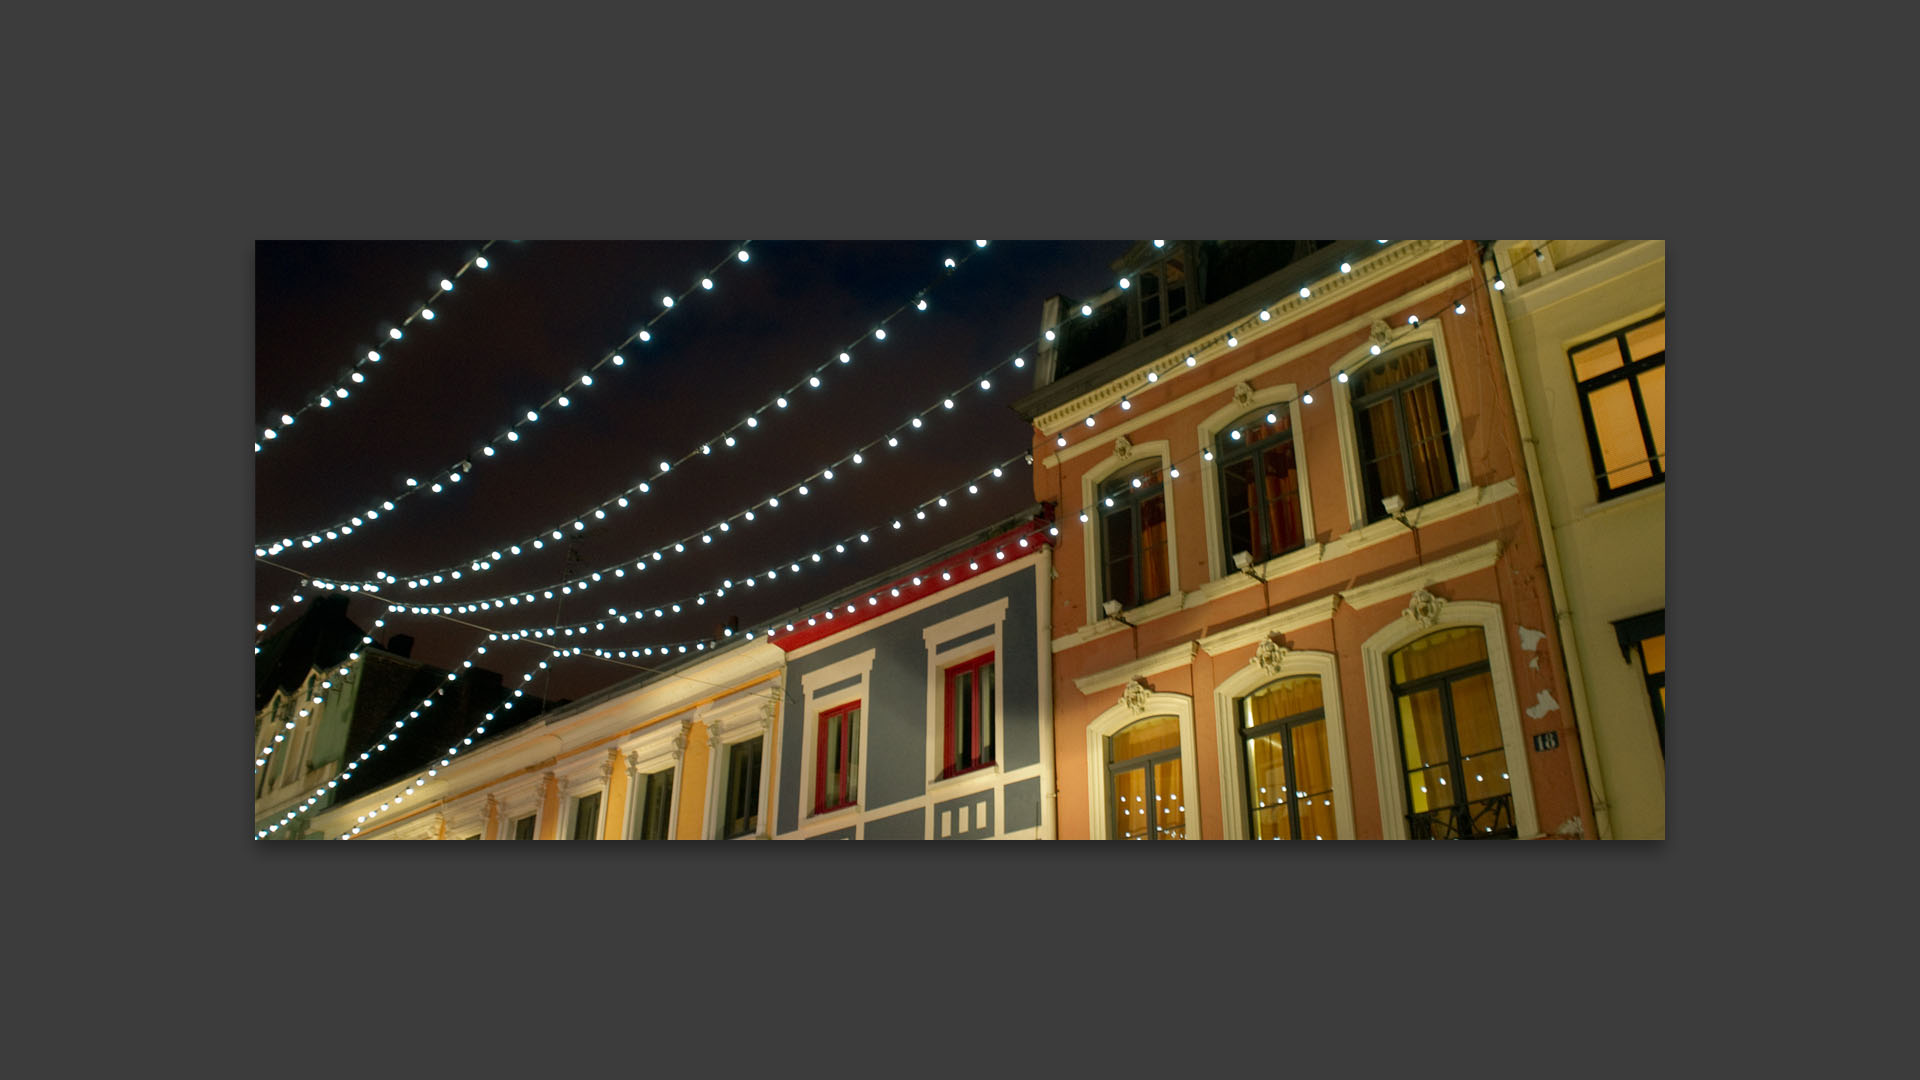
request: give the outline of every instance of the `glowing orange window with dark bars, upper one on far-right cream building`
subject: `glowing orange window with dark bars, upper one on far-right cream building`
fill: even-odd
[[[1667,480],[1667,313],[1569,350],[1601,500]]]

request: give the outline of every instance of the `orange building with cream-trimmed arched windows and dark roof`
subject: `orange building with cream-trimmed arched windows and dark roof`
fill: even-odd
[[[1058,836],[1596,836],[1478,246],[1121,265],[1048,304],[1016,405]]]

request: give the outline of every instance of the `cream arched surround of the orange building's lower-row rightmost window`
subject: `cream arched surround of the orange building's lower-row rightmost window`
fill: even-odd
[[[1411,590],[1407,590],[1411,596]],[[1455,626],[1473,626],[1486,636],[1486,663],[1494,680],[1494,705],[1500,711],[1500,742],[1507,751],[1507,773],[1513,790],[1513,824],[1521,840],[1540,836],[1540,817],[1534,809],[1534,784],[1528,755],[1532,744],[1521,728],[1521,707],[1513,692],[1513,661],[1507,655],[1507,625],[1498,603],[1482,600],[1448,600],[1440,603],[1440,619],[1425,625],[1407,613],[1394,619],[1361,642],[1359,657],[1367,675],[1367,713],[1373,721],[1373,763],[1380,790],[1380,836],[1407,838],[1405,771],[1400,765],[1400,719],[1394,711],[1394,684],[1388,657],[1402,646]]]

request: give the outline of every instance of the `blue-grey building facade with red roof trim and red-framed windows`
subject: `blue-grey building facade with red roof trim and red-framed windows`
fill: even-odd
[[[828,598],[785,650],[778,840],[1048,840],[1048,521]]]

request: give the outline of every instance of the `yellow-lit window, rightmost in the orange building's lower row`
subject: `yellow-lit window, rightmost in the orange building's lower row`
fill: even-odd
[[[1519,836],[1486,634],[1438,630],[1388,659],[1413,840]]]

